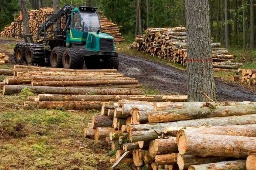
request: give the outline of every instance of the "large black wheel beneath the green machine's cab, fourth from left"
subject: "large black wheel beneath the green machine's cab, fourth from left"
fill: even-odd
[[[84,57],[81,50],[67,48],[62,57],[63,68],[82,69],[84,67]]]

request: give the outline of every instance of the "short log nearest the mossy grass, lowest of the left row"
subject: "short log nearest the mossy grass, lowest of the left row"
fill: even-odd
[[[25,105],[29,106],[29,102]],[[56,109],[64,108],[66,110],[83,110],[83,109],[97,109],[100,110],[101,102],[37,102],[39,109]]]

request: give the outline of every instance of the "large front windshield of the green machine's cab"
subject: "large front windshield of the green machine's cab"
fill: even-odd
[[[97,32],[100,30],[99,17],[97,13],[81,12],[84,22],[84,32]]]

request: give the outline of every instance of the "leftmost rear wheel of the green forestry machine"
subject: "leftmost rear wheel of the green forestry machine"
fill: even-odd
[[[28,43],[17,43],[15,45],[15,48],[13,50],[15,62],[17,64],[22,64],[25,62],[25,52],[26,52],[26,46]]]

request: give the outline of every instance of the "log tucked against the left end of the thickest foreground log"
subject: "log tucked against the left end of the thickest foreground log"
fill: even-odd
[[[159,154],[176,153],[178,151],[176,137],[167,139],[155,139],[149,144],[148,152],[151,157]]]

